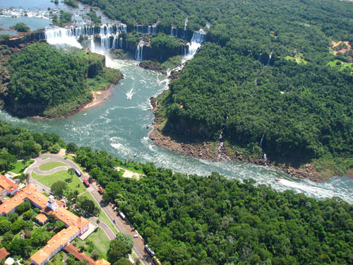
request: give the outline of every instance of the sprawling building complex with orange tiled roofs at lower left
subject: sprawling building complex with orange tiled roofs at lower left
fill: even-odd
[[[13,191],[12,189],[15,190],[16,187],[11,186],[10,190]],[[54,196],[45,196],[32,184],[24,187],[11,199],[4,201],[4,203],[0,205],[0,215],[7,216],[8,213],[16,211],[17,206],[22,204],[24,199],[30,200],[32,205],[40,208],[40,214],[36,216],[36,220],[41,225],[47,223],[47,216],[51,214],[53,214],[57,220],[61,220],[65,223],[65,229],[54,235],[54,237],[47,242],[47,245],[30,257],[32,264],[45,264],[49,259],[52,259],[56,253],[68,245],[68,243],[76,237],[83,235],[89,228],[90,222],[87,219],[71,213],[71,211],[63,207],[64,203],[62,201],[56,201]],[[105,265],[110,265],[109,262],[105,260],[101,260],[100,262]]]

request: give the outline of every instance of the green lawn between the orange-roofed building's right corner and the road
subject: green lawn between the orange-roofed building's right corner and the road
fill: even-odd
[[[107,259],[107,251],[109,249],[110,240],[101,228],[98,228],[95,230],[95,232],[92,232],[92,234],[90,234],[89,237],[87,237],[85,240],[82,241],[76,238],[74,242],[76,242],[76,247],[85,247],[84,252],[85,254],[88,254],[88,256],[90,256],[92,253],[88,251],[90,250],[90,247],[88,244],[86,244],[86,242],[92,242],[93,249],[97,249],[98,253],[100,254],[100,259]]]

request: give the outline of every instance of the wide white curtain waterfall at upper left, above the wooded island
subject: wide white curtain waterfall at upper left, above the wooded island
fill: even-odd
[[[90,50],[92,52],[105,52],[107,49],[122,47],[122,39],[119,39],[119,33],[127,33],[125,24],[83,26],[76,28],[54,28],[45,30],[45,40],[51,45],[70,45],[82,48],[77,41],[80,35],[88,36],[90,40]],[[99,35],[100,44],[94,42],[93,36]],[[119,39],[119,45],[118,45]]]

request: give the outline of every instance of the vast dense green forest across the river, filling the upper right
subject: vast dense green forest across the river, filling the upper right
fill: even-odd
[[[333,49],[333,41],[353,43],[351,3],[81,1],[131,29],[157,23],[152,48],[158,39],[172,44],[172,28],[208,32],[158,98],[163,134],[196,143],[217,143],[222,134],[235,159],[265,153],[265,163],[310,167],[321,179],[352,175],[352,50]]]

